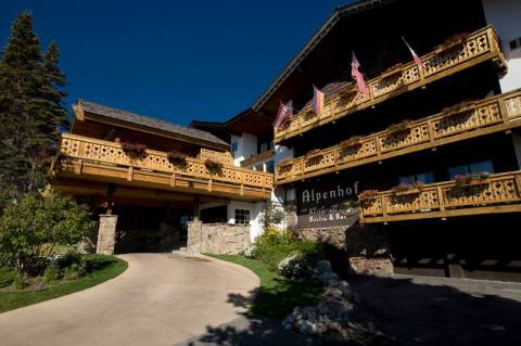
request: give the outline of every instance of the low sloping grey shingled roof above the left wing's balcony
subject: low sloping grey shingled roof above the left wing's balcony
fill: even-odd
[[[81,106],[84,112],[91,113],[94,115],[100,115],[103,117],[125,121],[125,123],[130,123],[130,124],[136,124],[140,126],[144,126],[148,128],[152,129],[157,129],[166,132],[171,132],[176,134],[180,134],[183,137],[188,138],[193,138],[206,142],[211,142],[214,144],[219,144],[219,145],[228,145],[225,141],[218,139],[214,134],[198,130],[191,127],[185,127],[180,126],[174,123],[161,120],[157,118],[149,117],[149,116],[143,116],[140,114],[118,110],[118,108],[113,108],[103,104],[86,101],[86,100],[78,100],[78,105]]]

